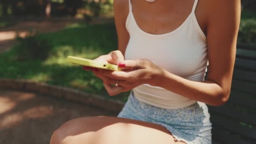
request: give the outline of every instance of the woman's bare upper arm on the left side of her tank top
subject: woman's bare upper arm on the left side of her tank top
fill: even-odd
[[[125,49],[130,39],[129,33],[126,30],[125,22],[129,13],[128,0],[115,0],[115,27],[117,30],[118,50],[125,55]]]

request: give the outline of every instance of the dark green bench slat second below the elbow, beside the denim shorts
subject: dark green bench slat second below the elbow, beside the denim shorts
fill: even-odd
[[[228,118],[220,115],[211,115],[211,122],[213,123],[213,127],[218,125],[221,128],[228,129],[229,131],[238,133],[256,141],[256,128],[248,128],[240,125],[238,121],[229,120]]]

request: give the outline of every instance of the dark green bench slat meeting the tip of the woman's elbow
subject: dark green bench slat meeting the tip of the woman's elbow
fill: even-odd
[[[254,97],[254,99],[252,99]],[[256,109],[256,96],[231,90],[228,103],[237,104],[249,109]]]

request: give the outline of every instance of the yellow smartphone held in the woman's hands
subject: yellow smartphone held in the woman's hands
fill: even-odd
[[[95,67],[99,69],[107,69],[113,71],[120,71],[121,69],[115,64],[108,64],[100,61],[95,61],[91,59],[83,59],[75,56],[68,56],[67,61],[73,64],[79,64],[87,67]]]

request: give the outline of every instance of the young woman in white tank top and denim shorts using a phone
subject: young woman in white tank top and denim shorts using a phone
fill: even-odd
[[[115,0],[114,6],[118,51],[96,60],[123,71],[93,72],[111,96],[132,90],[129,99],[118,117],[61,125],[51,144],[211,144],[206,104],[229,98],[240,0]]]

